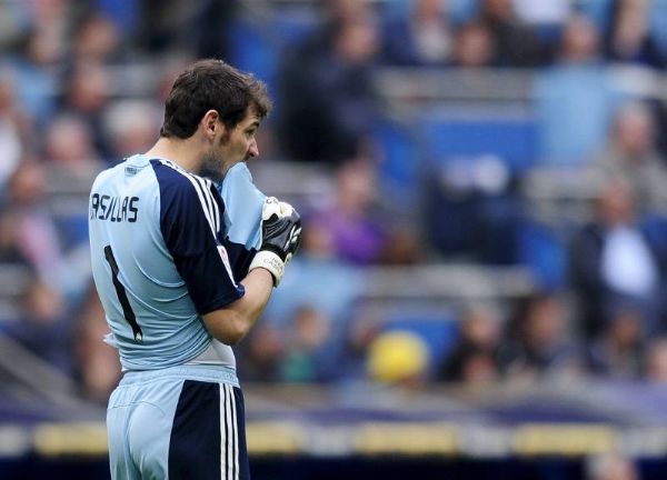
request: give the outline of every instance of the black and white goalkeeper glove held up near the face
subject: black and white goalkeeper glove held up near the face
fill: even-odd
[[[261,209],[261,238],[249,270],[268,270],[273,276],[273,287],[278,287],[286,263],[301,246],[301,217],[289,203],[268,198]]]

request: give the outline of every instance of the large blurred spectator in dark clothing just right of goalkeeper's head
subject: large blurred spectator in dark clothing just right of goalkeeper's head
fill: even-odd
[[[289,160],[336,164],[354,157],[378,119],[375,19],[361,10],[326,27],[293,49],[280,73],[278,134]]]

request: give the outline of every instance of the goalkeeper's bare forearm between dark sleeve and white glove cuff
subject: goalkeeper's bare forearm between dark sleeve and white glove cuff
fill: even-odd
[[[209,333],[226,344],[236,344],[248,334],[273,290],[273,277],[265,269],[251,270],[241,283],[243,297],[203,316]]]

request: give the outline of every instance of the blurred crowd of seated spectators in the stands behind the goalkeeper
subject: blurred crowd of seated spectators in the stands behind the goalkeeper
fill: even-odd
[[[86,194],[156,141],[175,74],[217,57],[275,98],[251,170],[323,182],[291,186],[303,248],[237,349],[246,381],[667,381],[667,110],[650,88],[666,26],[661,0],[1,2],[0,280],[13,287],[0,332],[106,400],[120,372]],[[378,82],[389,70],[527,76],[535,146],[505,137],[516,117],[488,99],[439,109],[412,92],[397,112]],[[535,184],[559,214],[536,214]],[[532,288],[446,311],[364,308],[378,267],[408,286],[449,262],[522,267]]]

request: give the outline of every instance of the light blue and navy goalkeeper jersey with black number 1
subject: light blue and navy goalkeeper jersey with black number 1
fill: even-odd
[[[188,363],[211,346],[233,358],[201,314],[243,296],[237,279],[259,246],[263,196],[242,163],[222,190],[232,197],[231,209],[210,180],[146,156],[96,179],[93,279],[125,370]]]

